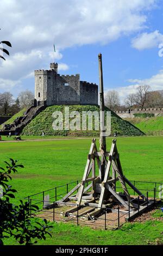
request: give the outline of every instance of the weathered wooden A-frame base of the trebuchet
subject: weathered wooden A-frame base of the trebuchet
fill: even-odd
[[[102,154],[105,161],[105,175],[103,180],[101,178]],[[98,175],[96,175],[96,162],[98,167]],[[116,191],[117,181],[119,181],[123,193]],[[118,154],[116,146],[116,139],[113,139],[112,141],[110,152],[105,153],[97,151],[96,139],[92,139],[82,181],[57,203],[61,205],[62,202],[76,200],[76,204],[78,206],[82,206],[87,201],[88,205],[90,203],[91,206],[95,206],[95,210],[91,212],[91,214],[94,216],[101,212],[103,205],[106,205],[107,202],[123,205],[127,210],[136,210],[138,206],[132,202],[126,183],[132,188],[133,191],[135,191],[139,196],[142,197],[143,200],[146,201],[146,197],[123,175],[120,155]],[[78,192],[74,194],[74,192],[77,190]],[[73,209],[76,210],[76,207]],[[68,212],[70,212],[70,210]],[[89,210],[87,210],[87,212],[89,212]]]

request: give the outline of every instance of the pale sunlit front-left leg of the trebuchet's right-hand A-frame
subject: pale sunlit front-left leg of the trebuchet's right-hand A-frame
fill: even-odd
[[[109,171],[110,171],[110,167],[111,167],[112,155],[114,153],[115,144],[116,144],[116,139],[113,139],[112,144],[111,144],[110,157],[109,157],[108,164],[107,164],[106,170],[105,170],[105,176],[104,176],[104,181],[103,181],[104,184],[108,180],[108,175],[109,175]],[[101,196],[99,198],[99,204],[98,204],[99,208],[101,208],[102,204],[103,204],[104,192],[105,192],[105,186],[102,186]]]

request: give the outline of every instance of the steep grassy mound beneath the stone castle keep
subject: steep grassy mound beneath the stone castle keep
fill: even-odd
[[[82,105],[73,105],[70,107],[70,112],[78,111],[82,116],[82,111],[98,111],[99,107],[97,106],[82,106]],[[99,136],[99,131],[54,131],[52,127],[52,123],[54,118],[52,117],[53,112],[61,111],[63,113],[63,118],[65,119],[65,106],[49,106],[45,110],[43,110],[40,114],[38,114],[26,127],[24,127],[22,134],[23,135],[41,135],[42,131],[45,132],[45,135],[55,135],[55,136]],[[105,108],[105,111],[109,111],[108,108]],[[71,120],[70,120],[71,121]],[[82,121],[81,121],[82,123]],[[94,126],[94,124],[93,124]],[[93,127],[94,128],[94,127]],[[118,132],[119,135],[123,136],[140,136],[143,135],[141,130],[137,129],[133,124],[130,124],[128,121],[122,120],[118,115],[114,112],[111,112],[111,133],[113,134],[115,131]]]

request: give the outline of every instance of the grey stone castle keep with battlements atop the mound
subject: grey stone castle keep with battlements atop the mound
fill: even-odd
[[[98,86],[80,81],[80,75],[58,74],[58,63],[50,70],[35,70],[35,106],[98,105]]]

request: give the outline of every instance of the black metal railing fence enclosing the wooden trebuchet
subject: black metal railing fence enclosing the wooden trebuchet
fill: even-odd
[[[93,218],[91,215],[88,214],[88,218],[86,218],[85,215],[79,213],[81,206],[77,205],[75,203],[64,203],[62,202],[62,208],[57,207],[57,201],[59,201],[62,197],[64,197],[68,192],[72,190],[74,186],[76,186],[80,181],[74,181],[62,186],[51,188],[50,190],[42,191],[40,193],[32,194],[25,199],[28,199],[29,202],[29,212],[32,216],[37,216],[41,218],[46,218],[47,220],[51,221],[71,221],[72,223],[76,223],[77,225],[90,225],[93,228],[104,228],[105,230],[109,227],[111,228],[119,228],[121,224],[126,222],[126,218],[130,219],[133,210],[130,208],[130,205],[133,201],[138,205],[137,208],[137,214],[139,215],[139,211],[141,211],[142,206],[150,205],[151,199],[155,203],[156,199],[163,199],[163,196],[161,198],[161,190],[163,190],[163,183],[162,182],[147,182],[147,181],[131,181],[134,186],[136,186],[140,191],[142,191],[142,194],[145,195],[146,200],[141,200],[141,196],[134,197],[130,202],[128,206],[128,211],[123,210],[123,205],[116,206],[117,208],[108,208],[107,206],[105,208],[101,208],[102,215],[99,216],[97,219]],[[89,185],[89,184],[87,184]],[[121,191],[120,186],[116,186],[116,190]],[[128,191],[133,196],[135,195],[135,191],[128,187]],[[49,195],[49,200],[45,200],[45,196]],[[50,205],[49,208],[51,209],[45,209],[45,204]],[[32,211],[32,206],[37,205],[39,206],[39,210]],[[67,213],[65,217],[65,213],[63,212],[64,206],[76,206],[76,210],[73,213]],[[82,205],[82,208],[86,208],[87,205]],[[94,206],[90,206],[90,208],[95,208]],[[91,212],[90,212],[91,214]],[[95,222],[96,220],[96,222]]]

